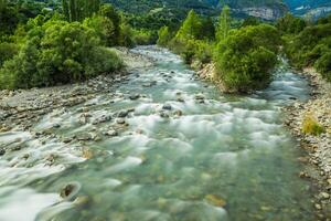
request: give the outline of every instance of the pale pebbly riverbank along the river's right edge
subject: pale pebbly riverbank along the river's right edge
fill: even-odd
[[[321,220],[331,220],[331,84],[313,69],[303,70],[303,74],[310,81],[311,98],[306,103],[295,103],[285,107],[285,124],[307,151],[307,157],[301,160],[308,166],[299,176],[310,179],[317,189],[317,213]],[[325,128],[325,133],[320,136],[302,133],[302,123],[307,115],[312,115]]]

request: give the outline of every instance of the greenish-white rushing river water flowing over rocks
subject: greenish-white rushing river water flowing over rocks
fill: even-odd
[[[194,77],[167,50],[132,51],[156,64],[33,128],[58,124],[58,136],[103,139],[0,135],[1,144],[20,138],[26,146],[0,157],[1,221],[313,220],[309,183],[298,178],[301,152],[280,110],[308,97],[306,80],[284,65],[269,88],[231,96]],[[125,123],[118,122],[122,109],[129,109],[119,114],[128,115]],[[86,124],[79,124],[82,112]],[[93,124],[100,118],[107,120]],[[113,129],[119,135],[103,135]],[[79,148],[90,159],[76,157]],[[63,200],[67,185],[73,191]]]

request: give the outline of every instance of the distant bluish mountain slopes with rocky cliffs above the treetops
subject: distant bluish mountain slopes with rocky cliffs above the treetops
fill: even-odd
[[[184,15],[190,9],[197,13],[216,15],[223,6],[231,7],[233,15],[245,18],[257,17],[264,20],[276,20],[286,12],[297,15],[318,18],[331,12],[331,0],[104,0],[131,13],[150,11],[175,11]],[[182,14],[183,13],[183,14]]]

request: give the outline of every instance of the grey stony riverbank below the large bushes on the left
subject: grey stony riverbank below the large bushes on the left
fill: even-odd
[[[86,82],[32,90],[0,91],[0,133],[28,130],[45,114],[62,107],[82,104],[106,92],[114,84],[128,81],[136,69],[150,66],[152,61],[126,48],[113,49],[125,62],[125,69],[99,75]]]

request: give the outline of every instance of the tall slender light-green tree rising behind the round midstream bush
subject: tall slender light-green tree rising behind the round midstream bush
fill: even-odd
[[[228,35],[231,25],[231,9],[228,6],[223,7],[216,28],[216,40],[220,42]]]

